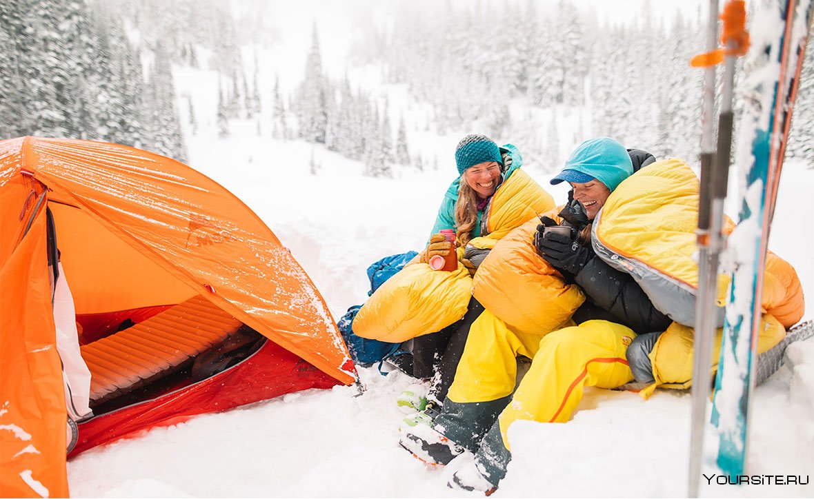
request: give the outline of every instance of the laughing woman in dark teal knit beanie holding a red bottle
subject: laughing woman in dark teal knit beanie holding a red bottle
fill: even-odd
[[[470,134],[458,142],[455,163],[459,176],[444,194],[427,249],[419,261],[428,263],[435,255],[449,254],[449,243],[440,231],[453,229],[457,246],[465,248],[458,252],[459,259],[474,276],[495,242],[536,213],[550,210],[554,198],[519,169],[523,158],[512,144],[498,146],[489,137]],[[431,403],[437,407],[444,401],[469,327],[483,310],[471,298],[463,319],[440,332],[414,338],[413,375],[424,381],[402,393],[400,406],[425,410],[428,388]],[[434,376],[430,387],[429,380]]]

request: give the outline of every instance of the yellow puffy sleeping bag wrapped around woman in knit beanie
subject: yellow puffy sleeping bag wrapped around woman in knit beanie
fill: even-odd
[[[513,228],[554,207],[554,198],[517,163],[484,210],[480,227],[485,230],[469,241],[470,245],[491,249]],[[438,332],[461,319],[472,288],[469,271],[460,263],[463,250],[458,248],[458,267],[451,272],[433,271],[416,257],[365,302],[353,319],[353,332],[363,338],[398,343]]]

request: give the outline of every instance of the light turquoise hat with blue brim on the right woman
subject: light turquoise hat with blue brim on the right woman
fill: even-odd
[[[599,137],[580,144],[551,183],[584,184],[597,179],[613,192],[632,174],[633,163],[624,145],[608,137]]]

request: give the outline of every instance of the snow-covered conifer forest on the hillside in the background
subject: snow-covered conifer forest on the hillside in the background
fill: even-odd
[[[408,110],[348,79],[374,67],[383,83],[406,86],[421,110],[415,128],[482,130],[549,171],[597,135],[697,157],[702,72],[688,61],[702,51],[700,14],[663,18],[646,2],[610,23],[571,2],[436,3],[394,3],[385,21],[358,23],[344,74],[322,67],[319,27],[302,20],[309,53],[289,70],[300,84],[282,89],[278,74],[259,76],[258,49],[278,42],[274,2],[6,0],[0,136],[112,141],[184,161],[181,122],[195,134],[208,117],[177,95],[171,69],[204,67],[218,74],[220,137],[253,119],[260,136],[363,159],[370,176],[429,167],[408,142]],[[814,166],[814,63],[805,71],[788,151]]]

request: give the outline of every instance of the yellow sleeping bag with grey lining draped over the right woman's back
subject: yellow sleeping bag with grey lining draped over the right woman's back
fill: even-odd
[[[693,371],[693,329],[698,265],[695,229],[698,227],[698,177],[680,159],[644,167],[608,197],[593,221],[593,247],[611,266],[631,274],[654,306],[675,321],[659,337],[650,360],[656,386],[685,388]],[[731,232],[727,219],[724,232]],[[767,255],[764,274],[762,327],[758,351],[777,345],[786,329],[803,316],[803,290],[789,263]],[[729,276],[718,277],[718,318]],[[720,349],[720,329],[716,349]],[[718,355],[713,355],[712,369]]]

